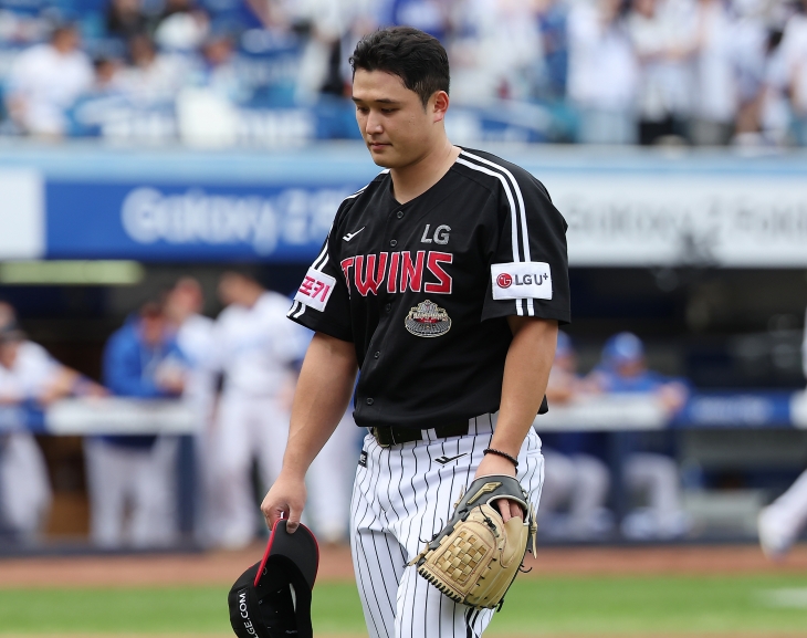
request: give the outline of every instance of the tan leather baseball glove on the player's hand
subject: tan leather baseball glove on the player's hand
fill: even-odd
[[[493,501],[518,503],[524,520],[502,521]],[[535,510],[513,477],[476,479],[454,503],[454,515],[409,563],[446,596],[480,609],[501,608],[532,543],[535,555]]]

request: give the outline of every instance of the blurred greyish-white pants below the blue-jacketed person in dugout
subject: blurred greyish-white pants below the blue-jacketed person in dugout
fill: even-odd
[[[84,441],[90,531],[102,547],[154,547],[177,540],[177,439],[150,448]]]

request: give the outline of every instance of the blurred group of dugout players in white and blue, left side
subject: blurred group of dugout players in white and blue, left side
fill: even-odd
[[[92,406],[93,398],[115,396],[182,401],[190,415],[193,458],[186,468],[179,467],[179,438],[153,428],[84,438],[90,537],[99,547],[176,545],[179,512],[189,509],[182,499],[193,501],[185,541],[192,535],[205,546],[235,548],[262,529],[258,498],[280,472],[296,370],[311,335],[286,318],[287,297],[248,271],[224,272],[218,296],[224,310],[216,321],[200,314],[202,289],[190,276],[143,303],[106,341],[101,384],[29,341],[14,308],[0,302],[0,409],[46,409],[66,397]],[[325,543],[346,541],[359,438],[352,411],[308,477],[313,525]],[[182,471],[192,483],[185,494],[178,490]],[[41,540],[52,488],[30,432],[0,433],[0,541]]]

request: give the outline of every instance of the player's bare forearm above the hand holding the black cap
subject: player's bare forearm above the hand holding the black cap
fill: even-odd
[[[292,404],[284,472],[305,475],[347,409],[356,370],[356,351],[352,343],[321,333],[314,336],[300,370]]]

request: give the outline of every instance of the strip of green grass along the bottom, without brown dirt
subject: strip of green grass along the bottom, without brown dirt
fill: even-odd
[[[489,634],[807,636],[807,607],[772,606],[783,589],[807,599],[807,575],[521,578]],[[317,585],[313,616],[316,634],[364,631],[349,584]],[[3,634],[232,635],[227,588],[208,586],[0,589]]]

